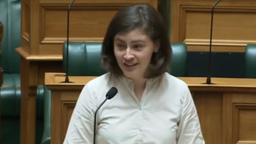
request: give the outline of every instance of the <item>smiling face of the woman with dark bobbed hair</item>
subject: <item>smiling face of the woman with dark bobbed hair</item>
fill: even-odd
[[[140,29],[116,35],[114,53],[124,76],[130,79],[143,78],[153,52],[158,47]]]

